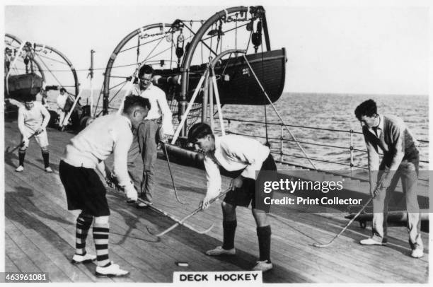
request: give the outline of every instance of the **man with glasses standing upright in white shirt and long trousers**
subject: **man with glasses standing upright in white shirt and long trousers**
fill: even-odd
[[[170,107],[168,107],[166,93],[152,84],[153,74],[154,69],[151,66],[143,65],[139,69],[139,84],[134,85],[130,92],[131,95],[139,95],[142,98],[148,99],[151,103],[151,109],[142,124],[140,124],[137,130],[137,140],[134,137],[134,142],[128,153],[129,170],[134,168],[134,160],[139,153],[142,155],[143,175],[140,182],[140,198],[149,204],[151,204],[152,192],[154,192],[155,186],[154,165],[158,153],[156,134],[158,133],[159,120],[162,118],[158,134],[161,141],[166,141],[166,136],[174,133],[171,122],[172,115]],[[139,180],[134,177],[132,172],[129,172],[129,175],[138,186]],[[146,206],[143,202],[137,204],[137,208],[145,208]]]

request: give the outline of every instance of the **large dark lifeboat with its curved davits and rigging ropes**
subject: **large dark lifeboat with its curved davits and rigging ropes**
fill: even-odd
[[[241,22],[245,22],[245,24],[238,25],[238,23]],[[103,114],[109,112],[110,102],[112,102],[115,96],[119,93],[119,90],[117,90],[114,95],[110,95],[110,91],[118,86],[112,85],[110,79],[115,77],[119,78],[118,76],[112,75],[112,71],[118,67],[115,66],[115,61],[122,56],[122,52],[137,48],[137,62],[129,64],[129,66],[134,66],[134,73],[132,73],[132,76],[125,76],[125,81],[134,83],[134,76],[136,76],[137,69],[139,66],[142,66],[142,64],[161,64],[161,66],[163,66],[169,61],[166,59],[155,61],[154,57],[158,54],[156,54],[156,56],[152,55],[151,57],[151,53],[154,52],[154,49],[152,49],[146,56],[146,59],[139,61],[139,47],[145,44],[153,45],[156,40],[163,40],[164,37],[170,41],[173,40],[175,35],[178,35],[178,47],[176,47],[176,49],[171,47],[171,57],[178,57],[178,65],[176,67],[171,67],[171,69],[158,69],[157,67],[154,67],[154,74],[156,75],[156,77],[154,77],[154,83],[166,92],[168,100],[175,100],[175,102],[177,102],[178,110],[173,112],[173,114],[178,115],[180,118],[185,113],[187,101],[192,97],[197,83],[200,80],[200,76],[204,71],[206,71],[207,65],[209,64],[208,61],[203,61],[201,64],[192,64],[192,59],[199,58],[197,55],[197,47],[202,45],[202,49],[203,47],[209,49],[209,54],[211,55],[209,61],[212,61],[212,58],[217,57],[218,54],[222,52],[221,38],[225,37],[225,33],[229,33],[231,30],[236,30],[236,33],[238,33],[238,29],[245,27],[247,33],[250,34],[248,35],[249,39],[246,47],[246,59],[248,59],[248,62],[250,62],[253,69],[255,69],[258,78],[262,80],[272,102],[279,99],[284,88],[285,64],[287,59],[284,48],[274,51],[270,49],[265,9],[262,6],[251,6],[249,8],[238,6],[224,9],[223,11],[215,13],[214,16],[210,17],[207,21],[202,21],[200,29],[196,32],[192,31],[188,27],[187,23],[188,21],[176,20],[172,24],[156,23],[146,25],[132,31],[132,33],[129,33],[129,35],[120,41],[112,52],[105,69],[103,89],[101,90],[101,93],[103,94]],[[225,23],[236,23],[236,28],[224,32],[222,27]],[[254,25],[257,26],[255,32]],[[183,36],[182,32],[183,30],[190,30],[193,34],[190,42],[185,45],[185,54],[183,50],[183,42],[185,42],[185,36]],[[209,37],[204,37],[205,35],[209,35]],[[137,46],[127,47],[127,43],[132,41],[135,37],[137,37],[139,44]],[[154,37],[159,38],[154,39]],[[181,40],[182,47],[179,47],[180,37],[183,37],[183,40]],[[208,44],[206,42],[209,39],[212,40],[212,37],[217,38],[216,47],[212,47],[215,43],[212,44],[211,42],[211,44]],[[237,37],[238,35],[236,34],[236,43]],[[258,52],[258,48],[262,46],[262,38],[265,41],[266,51]],[[146,43],[141,43],[141,39],[146,39]],[[250,42],[253,42],[254,52],[248,53]],[[253,47],[250,47],[250,49],[253,49]],[[174,53],[175,56],[173,56]],[[123,66],[128,65],[122,65],[122,67]],[[243,56],[234,54],[234,57],[232,57],[232,54],[230,54],[226,59],[221,59],[221,61],[219,61],[219,63],[214,67],[214,71],[215,74],[217,74],[217,85],[221,105],[269,104],[266,98],[262,95],[255,78],[250,74],[250,69],[248,69],[248,65]],[[197,104],[203,106],[202,117],[204,117],[204,113],[206,113],[206,108],[204,106],[207,105],[208,87],[209,83],[206,78],[203,88],[198,87],[202,89],[202,91],[195,100]],[[212,98],[212,100],[214,100],[214,98]],[[183,131],[183,135],[185,135],[185,132],[186,129]]]

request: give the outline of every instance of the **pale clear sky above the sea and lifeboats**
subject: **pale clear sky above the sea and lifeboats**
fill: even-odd
[[[19,5],[17,5],[17,3]],[[206,20],[239,1],[199,6],[197,1],[11,1],[4,6],[6,33],[59,49],[76,69],[105,67],[112,50],[143,25],[176,18]],[[150,2],[154,3],[154,2]],[[324,5],[323,3],[326,3]],[[415,4],[417,6],[414,6]],[[429,11],[427,2],[261,1],[273,49],[285,47],[284,91],[427,95]],[[169,6],[172,4],[174,6]],[[202,4],[201,4],[202,5]],[[319,6],[320,5],[320,6]],[[423,6],[424,5],[424,6]],[[81,86],[87,72],[79,73]],[[96,71],[94,85],[103,83]]]

